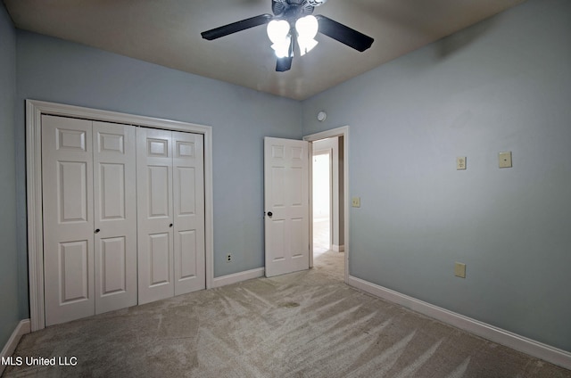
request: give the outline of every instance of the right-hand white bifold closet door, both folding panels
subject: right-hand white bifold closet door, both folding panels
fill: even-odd
[[[137,128],[139,304],[206,287],[203,136]]]

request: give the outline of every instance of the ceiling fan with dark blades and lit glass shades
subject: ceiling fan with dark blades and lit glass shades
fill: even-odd
[[[280,72],[292,68],[294,51],[299,51],[300,55],[304,55],[318,44],[314,39],[318,32],[357,51],[367,50],[373,44],[373,38],[326,16],[312,15],[316,6],[326,2],[327,0],[271,0],[273,15],[261,14],[203,31],[201,35],[204,39],[211,41],[238,31],[268,24],[268,37],[277,55],[276,70]]]

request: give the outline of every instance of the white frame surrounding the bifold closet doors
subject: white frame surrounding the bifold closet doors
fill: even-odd
[[[212,127],[170,119],[157,119],[116,111],[103,111],[62,103],[26,100],[26,203],[28,207],[29,317],[31,331],[46,326],[44,305],[44,234],[42,203],[42,114],[92,119],[184,131],[204,136],[204,252],[206,288],[214,279],[213,207],[212,207]]]

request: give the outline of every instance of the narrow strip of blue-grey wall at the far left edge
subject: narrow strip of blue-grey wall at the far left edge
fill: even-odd
[[[16,253],[16,31],[0,4],[0,349],[20,320]]]

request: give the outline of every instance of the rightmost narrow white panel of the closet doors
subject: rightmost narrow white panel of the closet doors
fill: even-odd
[[[174,295],[206,288],[203,136],[172,133]]]

